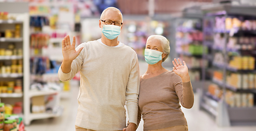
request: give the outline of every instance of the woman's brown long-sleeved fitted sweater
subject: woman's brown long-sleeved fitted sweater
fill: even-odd
[[[144,130],[187,125],[181,110],[192,108],[194,93],[190,82],[182,82],[173,71],[149,79],[141,79],[139,87],[138,123],[144,120]]]

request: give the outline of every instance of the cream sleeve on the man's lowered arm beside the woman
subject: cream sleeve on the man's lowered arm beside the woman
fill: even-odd
[[[129,116],[129,122],[137,126],[138,116],[138,93],[139,93],[139,67],[137,55],[133,59],[129,80],[126,86],[126,107]]]

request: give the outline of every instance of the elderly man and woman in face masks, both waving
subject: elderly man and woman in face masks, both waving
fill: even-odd
[[[148,38],[148,69],[139,76],[136,52],[117,40],[123,27],[121,12],[105,9],[99,27],[101,39],[76,49],[75,37],[72,43],[68,35],[62,40],[60,80],[71,80],[80,72],[75,130],[136,130],[141,116],[144,130],[188,130],[181,105],[191,108],[194,93],[184,61],[174,59],[172,71],[161,66],[170,53],[168,40],[161,35]]]

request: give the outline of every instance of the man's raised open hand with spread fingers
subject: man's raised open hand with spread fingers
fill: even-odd
[[[75,50],[75,37],[73,37],[72,44],[70,43],[69,35],[62,40],[62,55],[63,61],[73,61],[79,53],[83,50],[81,47],[78,51]]]

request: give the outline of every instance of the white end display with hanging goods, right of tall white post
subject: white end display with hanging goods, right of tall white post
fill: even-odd
[[[33,15],[36,16],[36,15]],[[42,28],[42,27],[41,27]],[[36,31],[30,33],[30,90],[28,91],[27,99],[32,103],[34,97],[43,96],[54,96],[55,102],[51,104],[51,111],[49,112],[31,112],[27,109],[27,117],[25,119],[25,124],[28,125],[32,120],[59,117],[62,114],[63,108],[60,106],[60,93],[61,86],[59,78],[57,77],[56,64],[53,61],[59,58],[53,53],[58,53],[53,50],[53,43],[59,45],[60,39],[51,38],[50,34],[53,32]],[[49,47],[50,46],[50,47]],[[52,50],[50,50],[52,49]],[[58,48],[59,49],[59,48]],[[60,53],[60,51],[59,51]],[[51,56],[55,56],[51,58]],[[47,63],[49,61],[50,63]],[[40,65],[39,65],[40,64]],[[47,67],[47,65],[54,66],[53,69]],[[44,105],[46,108],[46,105]],[[57,110],[55,110],[57,109]]]

